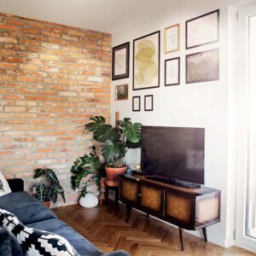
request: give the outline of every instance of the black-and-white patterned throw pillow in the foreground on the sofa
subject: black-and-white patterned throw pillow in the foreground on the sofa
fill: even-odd
[[[27,228],[13,213],[1,208],[0,226],[15,235],[26,256],[79,256],[64,237]]]

